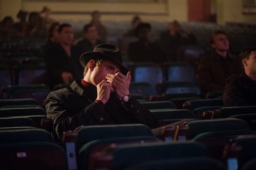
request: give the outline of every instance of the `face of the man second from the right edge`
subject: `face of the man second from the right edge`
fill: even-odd
[[[226,51],[229,49],[229,40],[225,34],[214,35],[213,41],[211,45],[215,50]]]

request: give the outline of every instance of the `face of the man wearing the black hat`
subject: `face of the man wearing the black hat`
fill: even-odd
[[[99,66],[95,66],[91,74],[91,83],[96,86],[102,80],[107,80],[106,76],[108,73],[116,74],[120,72],[119,67],[111,61],[102,61]]]

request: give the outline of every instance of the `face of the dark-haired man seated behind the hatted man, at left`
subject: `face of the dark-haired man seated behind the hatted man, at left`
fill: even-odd
[[[71,45],[74,39],[74,32],[72,27],[63,27],[62,31],[59,33],[59,40],[62,44]]]

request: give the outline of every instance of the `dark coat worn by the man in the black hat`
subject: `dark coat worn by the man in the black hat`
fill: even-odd
[[[81,125],[141,123],[151,129],[158,127],[156,116],[133,97],[130,109],[125,108],[115,93],[110,94],[105,106],[95,102],[96,98],[96,86],[85,86],[81,79],[76,79],[70,88],[49,93],[47,118],[53,119],[54,135],[60,140],[64,131],[75,130]]]

